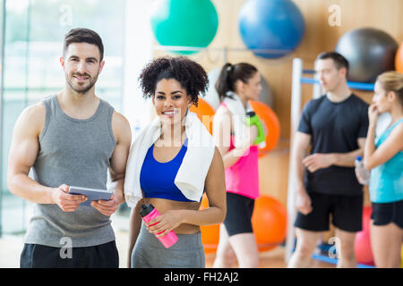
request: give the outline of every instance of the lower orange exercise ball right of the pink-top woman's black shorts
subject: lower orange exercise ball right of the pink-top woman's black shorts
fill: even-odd
[[[276,248],[286,239],[286,207],[276,198],[261,195],[254,203],[252,226],[259,251]]]

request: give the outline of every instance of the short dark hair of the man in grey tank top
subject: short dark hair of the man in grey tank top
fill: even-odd
[[[63,55],[72,43],[88,43],[98,46],[100,55],[99,62],[104,58],[104,45],[102,44],[102,39],[99,37],[99,34],[92,29],[75,28],[69,30],[67,34],[64,35]]]

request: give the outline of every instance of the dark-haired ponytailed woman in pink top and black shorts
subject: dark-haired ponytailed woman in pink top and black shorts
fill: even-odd
[[[258,129],[252,125],[247,144],[238,147],[234,115],[244,116],[250,107],[248,101],[258,100],[262,90],[261,75],[249,63],[226,63],[216,89],[221,105],[214,116],[213,135],[226,168],[227,217],[220,225],[214,267],[231,267],[236,260],[239,267],[258,267],[259,252],[251,221],[254,199],[259,197],[259,151],[253,145]],[[232,105],[240,105],[240,112],[231,108]],[[242,117],[242,121],[237,122],[243,120]]]

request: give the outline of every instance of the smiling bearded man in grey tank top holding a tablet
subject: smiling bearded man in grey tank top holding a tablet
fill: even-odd
[[[132,135],[124,116],[95,95],[103,53],[96,32],[70,30],[60,58],[64,89],[27,107],[15,123],[8,187],[36,204],[21,267],[118,267],[109,216],[124,202]],[[67,193],[69,186],[107,189],[107,169],[110,200],[81,206],[85,196]]]

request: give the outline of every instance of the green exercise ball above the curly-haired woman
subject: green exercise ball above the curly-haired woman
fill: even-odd
[[[151,28],[161,46],[206,47],[216,36],[219,16],[210,0],[159,0],[151,13]]]

